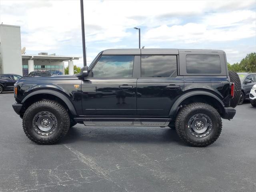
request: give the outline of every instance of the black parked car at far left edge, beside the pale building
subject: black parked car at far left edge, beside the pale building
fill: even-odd
[[[0,74],[0,94],[3,91],[13,91],[14,83],[21,77],[16,74]]]

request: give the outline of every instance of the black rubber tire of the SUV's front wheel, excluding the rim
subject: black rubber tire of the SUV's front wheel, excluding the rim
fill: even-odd
[[[56,117],[56,126],[50,135],[38,133],[33,124],[36,114],[46,111]],[[23,130],[26,136],[37,144],[54,144],[61,140],[68,132],[70,127],[70,117],[67,110],[58,102],[52,100],[41,100],[28,107],[23,116]]]

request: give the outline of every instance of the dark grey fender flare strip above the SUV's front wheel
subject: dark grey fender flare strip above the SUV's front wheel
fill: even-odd
[[[28,94],[23,100],[22,100],[22,104],[28,99],[30,98],[31,96],[33,95],[37,95],[37,94],[50,94],[50,95],[54,95],[58,98],[60,98],[67,106],[68,106],[68,109],[70,110],[71,114],[72,115],[75,115],[76,116],[76,109],[74,108],[74,105],[72,104],[72,102],[68,99],[67,96],[65,96],[64,94],[58,92],[58,91],[54,91],[54,90],[47,90],[47,89],[44,89],[44,90],[37,90],[37,91],[34,91],[34,92],[31,92],[30,94]]]

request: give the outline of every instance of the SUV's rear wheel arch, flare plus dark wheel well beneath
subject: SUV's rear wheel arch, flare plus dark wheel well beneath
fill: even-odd
[[[169,116],[176,116],[180,108],[179,106],[182,103],[189,100],[194,100],[195,98],[196,100],[194,102],[204,102],[203,100],[208,99],[208,102],[204,102],[204,103],[213,105],[213,107],[216,108],[220,112],[220,114],[222,114],[225,105],[222,102],[222,100],[218,98],[218,96],[206,91],[192,91],[192,92],[187,92],[183,94],[174,102],[174,104],[172,105],[172,108],[170,109]]]

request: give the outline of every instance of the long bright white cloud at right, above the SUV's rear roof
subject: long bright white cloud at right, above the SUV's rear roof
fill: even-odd
[[[231,41],[256,36],[256,12],[234,11],[214,13],[199,23],[162,25],[148,30],[144,40],[179,41],[194,43],[203,41]]]

